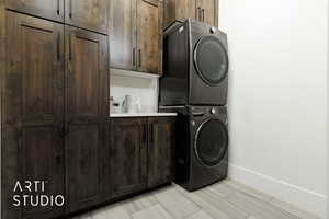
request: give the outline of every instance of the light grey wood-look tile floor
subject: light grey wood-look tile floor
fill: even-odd
[[[227,180],[194,193],[172,184],[73,219],[319,219]]]

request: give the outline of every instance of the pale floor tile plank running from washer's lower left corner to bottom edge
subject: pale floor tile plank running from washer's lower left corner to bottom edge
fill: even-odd
[[[155,197],[175,219],[186,218],[200,210],[197,205],[181,195],[173,186],[155,193]]]

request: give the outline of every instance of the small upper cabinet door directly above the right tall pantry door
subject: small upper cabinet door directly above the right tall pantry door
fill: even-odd
[[[107,34],[109,0],[65,0],[65,22]]]

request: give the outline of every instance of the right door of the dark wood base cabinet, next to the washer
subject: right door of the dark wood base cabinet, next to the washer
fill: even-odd
[[[174,118],[149,118],[148,187],[168,183],[174,175]]]

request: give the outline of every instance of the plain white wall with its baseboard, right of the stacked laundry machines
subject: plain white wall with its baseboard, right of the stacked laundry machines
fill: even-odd
[[[327,0],[220,0],[230,175],[325,218]]]

